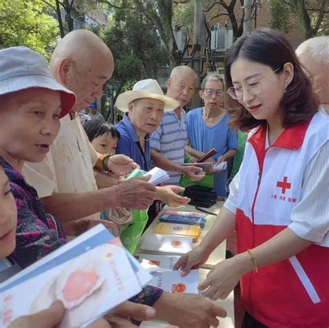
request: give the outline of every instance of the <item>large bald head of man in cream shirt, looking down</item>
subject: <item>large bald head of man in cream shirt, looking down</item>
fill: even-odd
[[[60,40],[49,69],[58,82],[76,94],[74,110],[81,111],[101,98],[103,84],[112,76],[114,60],[108,46],[97,35],[75,30]]]

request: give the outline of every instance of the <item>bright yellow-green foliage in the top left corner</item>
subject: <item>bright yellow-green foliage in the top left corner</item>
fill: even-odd
[[[0,0],[0,47],[28,46],[49,58],[58,24],[47,8],[42,0]]]

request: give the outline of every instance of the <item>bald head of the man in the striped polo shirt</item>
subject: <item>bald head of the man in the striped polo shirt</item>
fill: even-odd
[[[183,107],[189,103],[196,87],[196,74],[188,66],[177,66],[167,81],[167,96],[176,99]]]

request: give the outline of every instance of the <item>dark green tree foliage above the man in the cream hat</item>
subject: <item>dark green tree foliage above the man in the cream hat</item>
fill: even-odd
[[[133,6],[132,1],[123,2],[123,6]],[[99,35],[115,58],[111,84],[117,92],[123,91],[127,83],[130,87],[142,78],[156,78],[158,68],[167,63],[155,26],[141,12],[113,8],[110,24]]]

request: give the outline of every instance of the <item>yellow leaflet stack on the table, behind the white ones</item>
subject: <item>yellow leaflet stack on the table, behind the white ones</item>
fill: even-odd
[[[201,235],[201,227],[200,225],[182,225],[178,223],[160,222],[153,230],[153,233],[187,236],[192,237],[193,241],[199,241]]]

